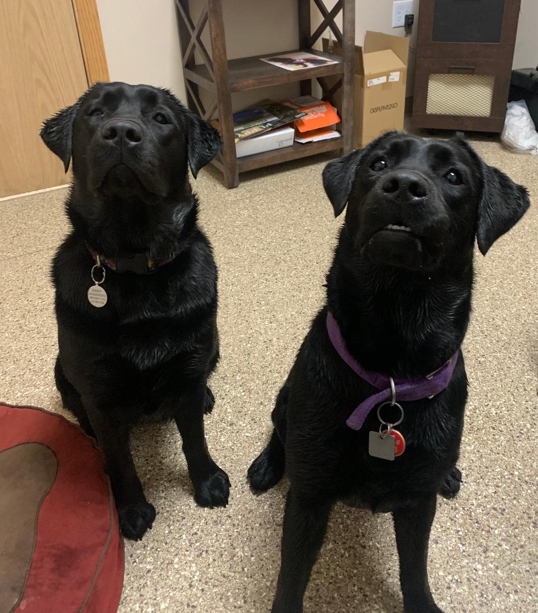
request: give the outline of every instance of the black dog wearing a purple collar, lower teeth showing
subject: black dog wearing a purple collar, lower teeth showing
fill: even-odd
[[[426,558],[436,495],[452,497],[460,487],[455,463],[467,378],[458,349],[471,309],[474,237],[487,253],[525,213],[528,195],[461,140],[395,132],[330,162],[323,178],[335,215],[348,204],[327,303],[278,394],[271,440],[248,473],[262,491],[279,481],[284,467],[290,478],[273,613],[303,610],[335,500],[392,512],[404,609],[439,612]],[[407,449],[393,462],[369,454],[371,436],[385,438],[375,409],[358,430],[346,425],[357,405],[379,390],[336,351],[329,313],[347,356],[387,381],[430,385],[434,371],[449,368],[455,356],[450,383],[438,395],[400,403],[398,430]],[[401,414],[390,406],[380,413],[386,424]]]

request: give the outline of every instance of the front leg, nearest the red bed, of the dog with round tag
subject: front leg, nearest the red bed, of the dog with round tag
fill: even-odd
[[[139,541],[151,528],[155,508],[148,503],[129,449],[129,427],[112,411],[85,402],[88,419],[105,457],[105,467],[118,510],[119,528],[126,538]]]

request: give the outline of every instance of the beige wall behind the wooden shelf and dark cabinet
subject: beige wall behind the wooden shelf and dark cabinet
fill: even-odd
[[[326,0],[330,9],[335,0]],[[226,44],[229,58],[273,53],[297,48],[297,0],[225,0],[223,2]],[[202,0],[191,0],[194,21]],[[419,0],[414,0],[415,23]],[[184,100],[180,45],[173,0],[97,0],[108,70],[112,80],[149,83],[169,87]],[[321,23],[312,9],[314,26]],[[357,0],[356,42],[362,44],[366,30],[404,36],[404,28],[392,28],[392,0]],[[341,21],[339,23],[341,26]],[[521,0],[514,66],[538,64],[538,0]],[[407,94],[412,94],[414,27],[410,37]],[[207,42],[207,28],[204,36]],[[293,96],[297,85],[257,89],[234,94],[235,109],[264,96]]]

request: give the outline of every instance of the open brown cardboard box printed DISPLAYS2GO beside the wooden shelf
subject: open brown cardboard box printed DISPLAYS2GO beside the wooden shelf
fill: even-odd
[[[324,51],[328,40],[323,40]],[[338,42],[333,53],[342,55]],[[364,48],[355,46],[353,146],[361,148],[389,130],[403,129],[409,39],[366,32]],[[332,85],[335,78],[327,83]],[[341,90],[333,101],[341,109]]]

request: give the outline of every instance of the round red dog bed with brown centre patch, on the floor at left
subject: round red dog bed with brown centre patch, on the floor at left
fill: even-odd
[[[123,541],[95,441],[0,404],[0,613],[115,613]]]

